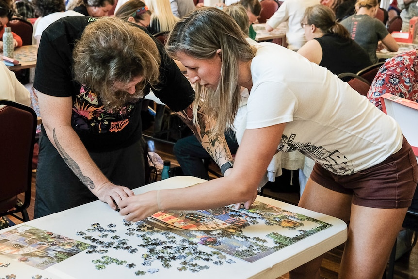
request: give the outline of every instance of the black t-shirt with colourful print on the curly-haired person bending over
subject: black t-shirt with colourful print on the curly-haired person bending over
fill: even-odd
[[[98,94],[88,88],[88,84],[81,86],[73,80],[74,45],[84,28],[95,20],[89,16],[68,16],[48,26],[41,37],[33,86],[47,95],[71,96],[73,129],[88,151],[100,152],[124,148],[141,138],[142,100],[128,103],[118,112],[108,111],[102,106]],[[172,110],[183,110],[194,100],[193,88],[165,53],[162,44],[154,41],[161,55],[161,65],[160,83],[153,92]],[[144,94],[149,91],[148,86]]]

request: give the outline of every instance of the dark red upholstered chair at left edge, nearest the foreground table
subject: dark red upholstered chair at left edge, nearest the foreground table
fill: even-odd
[[[31,202],[32,155],[37,116],[32,108],[0,100],[0,217],[13,215],[29,221],[26,211]],[[17,195],[24,193],[24,200]],[[22,217],[15,213],[21,213]]]

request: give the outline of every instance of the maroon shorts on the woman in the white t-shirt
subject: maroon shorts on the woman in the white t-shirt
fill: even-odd
[[[310,178],[330,190],[352,194],[356,205],[405,208],[411,205],[417,186],[417,160],[403,138],[401,150],[380,164],[351,175],[337,175],[316,163]]]

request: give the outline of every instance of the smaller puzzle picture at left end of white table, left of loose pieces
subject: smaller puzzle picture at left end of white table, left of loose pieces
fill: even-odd
[[[64,261],[89,246],[27,225],[0,234],[0,255],[39,269]]]

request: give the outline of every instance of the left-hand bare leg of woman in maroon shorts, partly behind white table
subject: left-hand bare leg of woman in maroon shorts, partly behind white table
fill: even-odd
[[[348,222],[350,219],[351,198],[351,195],[329,190],[309,179],[298,206]],[[322,258],[323,256],[320,256],[292,270],[289,279],[320,279],[319,269]]]

